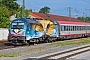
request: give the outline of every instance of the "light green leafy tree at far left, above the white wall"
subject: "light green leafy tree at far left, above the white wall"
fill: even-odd
[[[9,27],[10,24],[9,14],[10,12],[5,6],[0,7],[0,28]]]

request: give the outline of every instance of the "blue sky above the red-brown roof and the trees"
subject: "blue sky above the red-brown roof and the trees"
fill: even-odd
[[[22,6],[22,0],[17,1]],[[50,14],[68,16],[68,7],[71,7],[71,16],[90,16],[90,0],[25,0],[25,8],[38,12],[40,8],[50,7]]]

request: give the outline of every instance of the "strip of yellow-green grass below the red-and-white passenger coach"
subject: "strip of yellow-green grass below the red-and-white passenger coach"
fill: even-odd
[[[63,42],[54,42],[53,45],[56,46],[65,46],[65,45],[72,45],[72,44],[88,44],[90,43],[90,38],[84,38],[79,40],[70,40],[70,41],[63,41]]]

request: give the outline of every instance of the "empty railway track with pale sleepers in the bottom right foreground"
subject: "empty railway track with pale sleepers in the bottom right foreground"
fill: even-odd
[[[76,48],[71,48],[71,49],[56,52],[56,53],[46,54],[46,55],[42,55],[34,58],[43,59],[43,60],[65,60],[75,55],[88,52],[88,51],[90,51],[90,44],[76,47]]]

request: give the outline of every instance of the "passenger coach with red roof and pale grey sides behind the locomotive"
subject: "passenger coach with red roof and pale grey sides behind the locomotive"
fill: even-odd
[[[77,38],[90,36],[90,23],[57,21],[60,27],[60,38]]]

